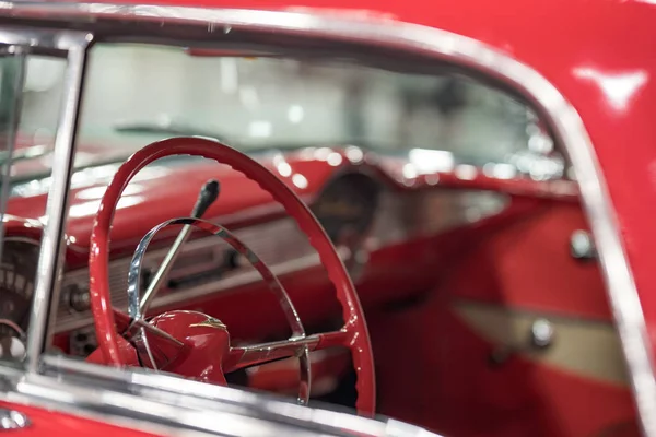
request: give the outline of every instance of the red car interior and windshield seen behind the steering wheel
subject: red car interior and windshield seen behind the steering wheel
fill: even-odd
[[[7,58],[0,69],[1,101],[23,94],[0,265],[1,357],[21,361],[66,60]],[[156,141],[210,138],[261,163],[321,224],[364,310],[377,414],[447,436],[639,435],[576,175],[513,90],[453,66],[273,46],[103,43],[86,70],[50,353],[98,353],[90,244],[120,166]],[[196,214],[208,187],[215,196]],[[144,235],[197,215],[268,267],[307,334],[348,322],[307,233],[256,181],[198,156],[162,157],[122,190],[107,243],[113,306],[129,307]],[[293,335],[253,259],[216,238],[223,231],[187,223],[162,228],[144,252],[137,293],[156,284],[148,317],[200,311],[234,346]],[[311,402],[353,409],[349,349],[311,352],[309,363]],[[296,397],[302,375],[290,357],[225,379]]]

